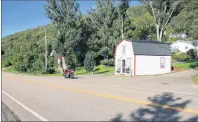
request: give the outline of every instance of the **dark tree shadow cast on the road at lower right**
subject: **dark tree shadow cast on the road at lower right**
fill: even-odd
[[[190,100],[183,101],[182,98],[175,98],[172,93],[163,93],[154,97],[149,97],[148,100],[152,103],[161,105],[169,105],[173,107],[185,108],[187,104],[191,103]],[[182,116],[179,115],[180,111],[174,109],[165,109],[162,107],[148,105],[139,108],[130,115],[130,121],[180,121]],[[111,119],[113,122],[120,122],[122,114],[117,114],[116,117]],[[189,118],[186,121],[198,121],[198,115]]]

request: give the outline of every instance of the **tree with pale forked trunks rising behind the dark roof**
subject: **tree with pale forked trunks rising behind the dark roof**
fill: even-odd
[[[156,24],[157,40],[162,41],[166,25],[180,13],[183,0],[141,0],[141,2],[153,16]]]

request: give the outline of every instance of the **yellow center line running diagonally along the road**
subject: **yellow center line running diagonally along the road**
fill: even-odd
[[[47,87],[65,90],[65,91],[83,93],[83,94],[87,94],[87,95],[91,95],[91,96],[98,96],[98,97],[103,97],[103,98],[108,98],[108,99],[113,99],[113,100],[120,100],[120,101],[125,101],[125,102],[130,102],[130,103],[150,105],[150,106],[156,106],[156,107],[161,107],[161,108],[165,108],[165,109],[173,109],[173,110],[177,110],[177,111],[198,114],[198,110],[194,110],[194,109],[190,109],[190,108],[174,107],[174,106],[170,106],[170,105],[162,105],[162,104],[158,104],[158,103],[152,103],[149,101],[142,101],[142,100],[130,99],[130,98],[126,98],[126,97],[114,96],[114,95],[110,95],[110,94],[97,93],[97,92],[87,91],[87,90],[83,90],[83,89],[69,88],[69,87],[64,87],[64,86],[60,86],[57,84],[45,83],[43,81],[35,82],[32,80],[26,80],[26,79],[15,77],[15,76],[7,76],[7,77],[13,78],[13,79],[19,79],[19,80],[29,82],[29,83],[36,83],[36,84],[40,84],[42,86],[47,86]]]

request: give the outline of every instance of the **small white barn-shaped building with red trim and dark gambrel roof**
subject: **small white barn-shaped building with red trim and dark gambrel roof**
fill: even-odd
[[[121,40],[115,49],[116,75],[154,75],[171,72],[168,44],[149,40]]]

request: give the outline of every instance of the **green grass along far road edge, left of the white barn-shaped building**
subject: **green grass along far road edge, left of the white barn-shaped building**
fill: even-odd
[[[20,73],[20,74],[25,74],[25,75],[34,75],[34,76],[62,76],[61,73],[55,72],[54,74],[28,74],[28,73],[21,73],[16,71],[13,67],[7,67],[6,72],[11,72],[11,73]],[[114,66],[102,66],[99,65],[94,68],[94,74],[105,74],[108,75],[110,73],[114,73]],[[84,69],[84,67],[77,67],[75,71],[75,75],[86,75],[88,72]]]

